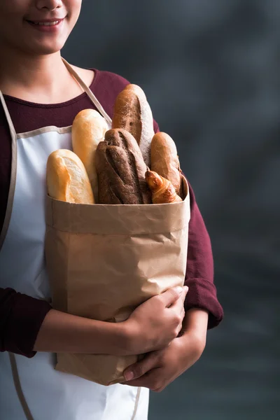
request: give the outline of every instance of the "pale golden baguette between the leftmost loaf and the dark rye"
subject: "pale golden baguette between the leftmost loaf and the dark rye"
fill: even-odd
[[[98,200],[98,182],[95,169],[95,152],[108,126],[106,120],[94,109],[80,111],[73,120],[72,144],[73,152],[85,165],[87,175],[92,185],[95,202]]]

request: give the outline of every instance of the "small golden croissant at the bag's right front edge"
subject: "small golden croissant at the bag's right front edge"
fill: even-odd
[[[176,203],[183,201],[172,183],[156,172],[146,172],[146,183],[152,192],[153,204]]]

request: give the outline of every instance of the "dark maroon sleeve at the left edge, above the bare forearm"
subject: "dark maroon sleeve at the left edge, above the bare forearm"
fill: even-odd
[[[50,309],[44,300],[0,288],[0,351],[35,356],[36,337]]]

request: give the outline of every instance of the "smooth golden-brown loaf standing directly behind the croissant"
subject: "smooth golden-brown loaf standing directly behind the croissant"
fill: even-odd
[[[180,195],[181,170],[176,144],[166,133],[154,135],[151,144],[151,170],[168,179]]]

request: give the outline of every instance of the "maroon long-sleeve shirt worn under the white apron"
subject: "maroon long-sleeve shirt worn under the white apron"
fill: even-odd
[[[129,83],[124,78],[108,71],[94,69],[95,76],[90,86],[109,116],[118,93]],[[38,105],[13,97],[5,97],[15,131],[29,132],[40,127],[72,125],[76,114],[94,105],[87,94],[63,104]],[[155,132],[159,131],[154,123]],[[0,232],[6,214],[10,186],[11,141],[8,124],[0,107]],[[186,284],[189,286],[186,309],[198,307],[209,311],[209,328],[218,325],[223,318],[223,309],[216,297],[214,264],[211,242],[195,195],[190,187],[190,225],[188,242],[188,266]],[[1,267],[0,267],[1,270]],[[34,342],[50,304],[43,300],[17,293],[12,288],[0,288],[0,351],[11,351],[27,357],[34,356]]]

